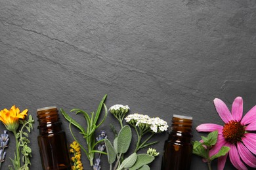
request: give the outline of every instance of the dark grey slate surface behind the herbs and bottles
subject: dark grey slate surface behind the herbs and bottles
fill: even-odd
[[[256,105],[255,53],[255,0],[1,0],[0,107],[29,109],[37,120],[36,109],[51,105],[94,111],[106,93],[108,108],[129,105],[130,113],[169,125],[173,114],[193,116],[199,140],[204,134],[196,126],[223,124],[215,97],[230,108],[242,96],[244,113]],[[71,143],[68,122],[60,119]],[[102,129],[113,140],[110,123],[118,127],[109,114]],[[37,125],[31,169],[41,169]],[[10,135],[3,169],[13,158]],[[167,133],[154,137],[160,152],[165,139]],[[106,162],[102,169],[109,169]],[[85,156],[83,165],[91,169]],[[158,156],[151,167],[160,166]],[[191,169],[207,165],[193,156]],[[234,167],[228,161],[225,169]]]

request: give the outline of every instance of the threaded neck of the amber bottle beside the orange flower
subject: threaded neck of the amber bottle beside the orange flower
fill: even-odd
[[[37,118],[39,122],[37,128],[39,129],[40,135],[51,135],[62,131],[56,107],[37,109]]]

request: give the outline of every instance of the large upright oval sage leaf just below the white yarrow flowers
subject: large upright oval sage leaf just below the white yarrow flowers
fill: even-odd
[[[124,154],[131,144],[131,127],[125,125],[121,128],[117,137],[117,153]]]

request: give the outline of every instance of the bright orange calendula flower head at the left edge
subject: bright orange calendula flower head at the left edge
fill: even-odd
[[[18,126],[20,125],[18,120],[24,119],[27,116],[28,109],[23,110],[20,112],[18,107],[16,108],[15,105],[11,107],[10,110],[3,109],[0,112],[0,120],[5,124],[7,130],[16,132]]]

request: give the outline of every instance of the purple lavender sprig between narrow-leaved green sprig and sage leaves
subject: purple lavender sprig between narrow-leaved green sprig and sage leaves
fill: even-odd
[[[108,136],[106,135],[106,131],[104,130],[100,131],[100,135],[96,137],[97,141],[102,141],[101,143],[98,144],[98,150],[100,152],[104,152],[106,146],[103,139],[107,139],[107,138]],[[99,153],[98,158],[95,159],[95,165],[93,165],[93,170],[100,170],[100,156],[101,156],[101,153]]]

